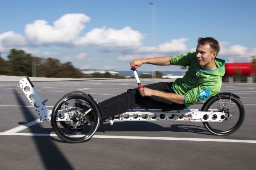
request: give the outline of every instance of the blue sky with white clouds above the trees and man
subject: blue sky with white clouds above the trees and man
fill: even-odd
[[[149,4],[151,3],[151,4]],[[256,56],[255,0],[0,0],[0,53],[22,49],[79,69],[128,71],[131,59],[195,51],[214,37],[218,57]],[[145,64],[140,71],[180,71]]]

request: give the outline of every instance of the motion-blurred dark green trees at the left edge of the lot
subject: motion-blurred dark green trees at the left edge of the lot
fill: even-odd
[[[74,68],[71,62],[64,64],[58,59],[42,59],[26,54],[23,50],[10,50],[8,61],[0,57],[0,74],[9,76],[32,76],[32,63],[35,63],[37,77],[84,78],[84,74]]]

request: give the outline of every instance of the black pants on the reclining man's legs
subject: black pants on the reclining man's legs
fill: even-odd
[[[173,93],[171,90],[172,82],[158,82],[145,85],[144,87],[166,93]],[[102,119],[107,119],[111,116],[125,113],[129,109],[134,109],[138,106],[148,109],[162,109],[165,111],[183,110],[186,108],[185,105],[172,103],[157,96],[143,97],[140,95],[139,88],[128,89],[123,94],[114,96],[99,103]]]

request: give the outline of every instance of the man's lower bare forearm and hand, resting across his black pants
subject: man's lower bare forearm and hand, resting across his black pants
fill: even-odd
[[[162,91],[152,90],[150,88],[140,88],[141,96],[158,96],[162,99],[174,102],[177,104],[184,104],[184,95],[174,94],[174,93],[165,93]]]

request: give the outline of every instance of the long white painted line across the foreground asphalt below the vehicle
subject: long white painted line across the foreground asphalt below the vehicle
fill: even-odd
[[[6,133],[2,132],[0,135],[12,136],[53,136],[56,134],[49,133]],[[80,135],[77,135],[80,137]],[[201,141],[201,142],[235,142],[235,143],[256,143],[256,140],[237,140],[237,139],[208,139],[208,138],[172,138],[172,137],[148,137],[148,136],[108,136],[108,135],[94,135],[93,138],[107,138],[107,139],[146,139],[146,140],[175,140],[175,141]]]

